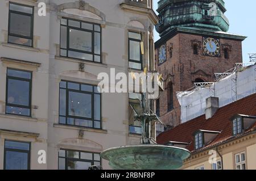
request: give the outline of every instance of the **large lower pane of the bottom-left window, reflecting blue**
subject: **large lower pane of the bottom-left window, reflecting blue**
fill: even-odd
[[[28,154],[17,151],[6,151],[5,153],[5,169],[6,170],[27,170]]]

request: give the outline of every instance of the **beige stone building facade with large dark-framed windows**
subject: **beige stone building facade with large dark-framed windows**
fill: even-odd
[[[100,93],[97,75],[154,69],[152,1],[4,0],[0,12],[0,169],[110,169],[101,151],[138,144],[141,129],[132,94]]]

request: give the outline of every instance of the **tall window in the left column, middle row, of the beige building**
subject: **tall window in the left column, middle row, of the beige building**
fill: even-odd
[[[31,116],[30,71],[7,69],[6,76],[6,113]]]

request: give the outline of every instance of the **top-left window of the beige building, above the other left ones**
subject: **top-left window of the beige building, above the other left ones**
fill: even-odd
[[[34,8],[16,3],[9,5],[8,42],[32,47]]]

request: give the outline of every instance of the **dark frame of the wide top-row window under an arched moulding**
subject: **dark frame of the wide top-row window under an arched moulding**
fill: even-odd
[[[91,54],[92,55],[92,60],[84,60],[84,59],[81,59],[81,58],[74,58],[74,59],[81,60],[81,61],[86,61],[86,62],[94,62],[94,63],[97,63],[97,64],[102,64],[102,27],[101,27],[101,24],[92,23],[92,22],[85,22],[85,21],[82,21],[82,20],[66,18],[66,17],[61,17],[61,19],[67,20],[67,24],[66,25],[65,24],[61,24],[61,20],[60,20],[60,57],[74,58],[74,57],[69,57],[68,56],[68,52],[69,51],[79,52],[79,53]],[[79,22],[80,28],[69,26],[69,20],[73,20],[73,21]],[[92,24],[93,30],[88,30],[88,29],[82,28],[82,23]],[[96,26],[96,25],[100,26],[100,32],[95,30],[94,26]],[[64,27],[67,28],[67,37],[66,37],[67,38],[67,45],[66,45],[66,48],[61,48],[61,26],[64,26]],[[77,31],[82,31],[82,32],[90,32],[90,33],[92,33],[92,52],[87,52],[87,51],[84,51],[84,50],[69,48],[69,37],[70,37],[70,35],[69,35],[70,31],[69,30],[70,29],[77,30]],[[94,39],[95,36],[94,36],[94,34],[95,33],[100,33],[100,54],[94,53],[94,43],[95,43],[95,39]],[[66,50],[67,56],[62,56],[61,55],[61,49],[62,50]],[[94,56],[100,56],[100,62],[95,61]]]

